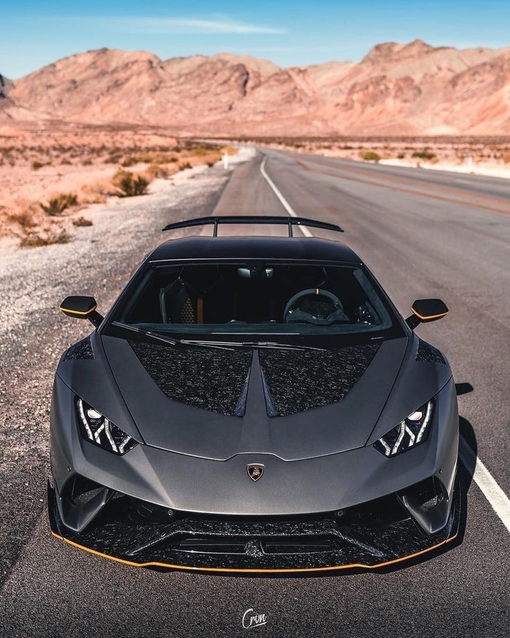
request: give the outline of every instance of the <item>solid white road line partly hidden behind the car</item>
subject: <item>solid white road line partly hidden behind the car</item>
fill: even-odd
[[[274,194],[281,201],[281,205],[288,214],[292,217],[297,217],[298,215],[294,212],[294,209],[290,206],[289,202],[283,197],[281,192],[276,188],[273,180],[269,175],[265,172],[265,161],[267,160],[267,155],[264,156],[264,160],[261,164],[261,173],[267,184],[273,189]],[[301,232],[306,237],[313,236],[312,233],[305,226],[299,226]],[[473,449],[468,445],[468,442],[464,439],[464,437],[460,437],[459,441],[459,458],[464,463],[468,472],[473,475],[473,480],[478,485],[484,497],[489,501],[491,507],[495,511],[495,513],[500,517],[502,524],[507,528],[510,532],[510,499],[507,497],[507,494],[503,492],[503,490],[498,485],[498,482],[495,480],[491,472],[485,467],[480,458],[477,457]]]

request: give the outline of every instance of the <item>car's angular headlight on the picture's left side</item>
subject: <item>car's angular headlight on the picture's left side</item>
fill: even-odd
[[[103,417],[83,399],[76,399],[76,408],[80,432],[87,441],[118,455],[125,454],[137,445],[134,438]]]

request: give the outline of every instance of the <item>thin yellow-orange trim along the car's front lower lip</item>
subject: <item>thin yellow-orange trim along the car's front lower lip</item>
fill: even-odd
[[[108,554],[104,554],[100,551],[96,551],[95,549],[89,549],[89,547],[85,547],[84,545],[80,545],[78,543],[73,542],[59,534],[55,534],[55,532],[51,532],[55,538],[59,540],[63,540],[68,545],[72,545],[73,547],[77,547],[78,549],[83,549],[88,551],[91,554],[96,556],[101,556],[102,558],[108,558],[109,560],[114,560],[115,562],[121,562],[125,565],[130,565],[131,567],[167,567],[168,569],[180,569],[181,571],[218,571],[218,572],[229,572],[229,573],[237,573],[237,574],[296,574],[297,572],[306,572],[306,571],[334,571],[336,569],[376,569],[377,567],[387,567],[388,565],[395,564],[397,562],[402,562],[403,560],[410,560],[411,558],[416,558],[421,554],[432,551],[433,549],[437,549],[441,547],[441,545],[445,545],[452,540],[457,538],[457,533],[455,535],[442,540],[440,543],[436,545],[432,545],[432,547],[428,547],[427,549],[421,549],[420,551],[416,551],[413,554],[409,554],[407,556],[403,556],[402,558],[394,558],[393,560],[387,560],[385,562],[379,562],[375,565],[367,565],[364,563],[351,563],[346,565],[333,565],[333,567],[296,567],[295,569],[285,568],[285,569],[243,569],[236,567],[189,567],[186,565],[174,565],[168,564],[165,562],[132,562],[131,560],[125,560],[123,558],[115,558],[115,556],[110,556]]]

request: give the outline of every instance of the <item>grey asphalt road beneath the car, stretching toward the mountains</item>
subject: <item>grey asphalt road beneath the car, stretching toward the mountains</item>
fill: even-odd
[[[265,153],[265,169],[294,211],[340,223],[346,231],[340,239],[367,261],[405,315],[416,298],[446,301],[450,315],[419,327],[419,334],[448,356],[461,392],[461,432],[509,495],[510,184]],[[284,214],[261,160],[238,166],[221,196],[220,182],[211,187],[197,212]],[[192,209],[188,200],[167,209],[166,217]],[[117,289],[125,270],[112,267],[103,277],[94,266],[87,285]],[[48,334],[55,343],[57,335]],[[32,390],[37,395],[37,386]],[[327,577],[232,578],[122,567],[50,537],[39,504],[3,585],[0,635],[236,636],[245,633],[241,620],[252,608],[266,614],[267,624],[250,631],[266,635],[508,636],[510,534],[472,471],[459,470],[467,515],[456,546],[400,569]],[[44,483],[44,475],[36,478]]]

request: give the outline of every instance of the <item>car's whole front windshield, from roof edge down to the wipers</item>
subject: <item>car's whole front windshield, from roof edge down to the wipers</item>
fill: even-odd
[[[148,264],[116,305],[106,334],[125,337],[119,324],[177,338],[279,342],[389,336],[398,329],[377,284],[360,267],[273,261]]]

